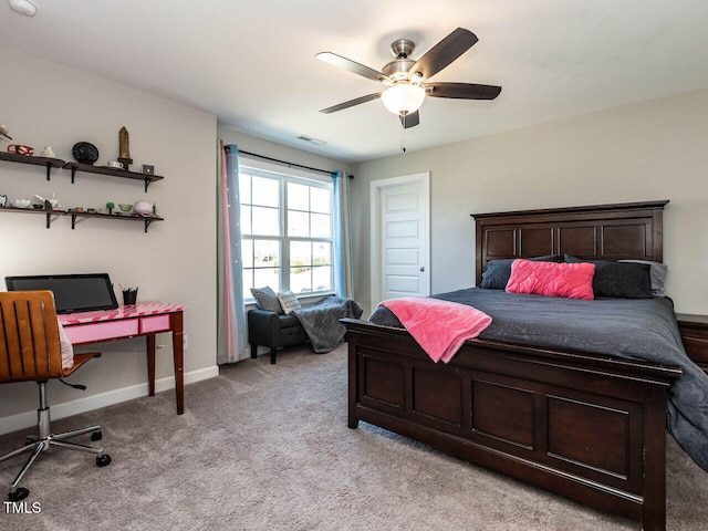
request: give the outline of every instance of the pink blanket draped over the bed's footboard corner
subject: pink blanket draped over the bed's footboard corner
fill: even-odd
[[[435,363],[448,363],[466,340],[477,337],[491,317],[466,304],[425,296],[384,301]]]

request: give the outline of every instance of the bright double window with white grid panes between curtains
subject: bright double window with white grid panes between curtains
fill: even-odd
[[[241,166],[239,192],[243,298],[332,292],[332,184]]]

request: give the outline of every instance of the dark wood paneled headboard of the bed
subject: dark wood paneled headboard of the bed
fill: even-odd
[[[572,254],[590,260],[662,262],[668,200],[472,214],[479,285],[490,260]]]

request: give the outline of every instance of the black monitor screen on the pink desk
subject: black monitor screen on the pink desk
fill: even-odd
[[[6,277],[4,282],[9,291],[52,291],[56,313],[118,308],[107,273]]]

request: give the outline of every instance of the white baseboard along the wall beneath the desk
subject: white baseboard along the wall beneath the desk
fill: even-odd
[[[202,379],[214,378],[218,375],[218,365],[185,373],[185,385],[194,384],[195,382],[200,382]],[[174,376],[155,381],[155,393],[160,393],[163,391],[174,388]],[[56,404],[55,406],[51,406],[52,418],[59,419],[71,417],[72,415],[79,415],[80,413],[91,412],[93,409],[98,409],[105,406],[112,406],[113,404],[132,400],[134,398],[139,398],[140,396],[147,396],[147,382],[143,384],[132,385],[129,387],[108,391],[106,393],[98,393],[96,395],[86,396],[76,400]],[[32,409],[25,413],[19,413],[17,415],[0,418],[0,435],[11,434],[12,431],[17,431],[19,429],[31,428],[35,425],[37,409]]]

